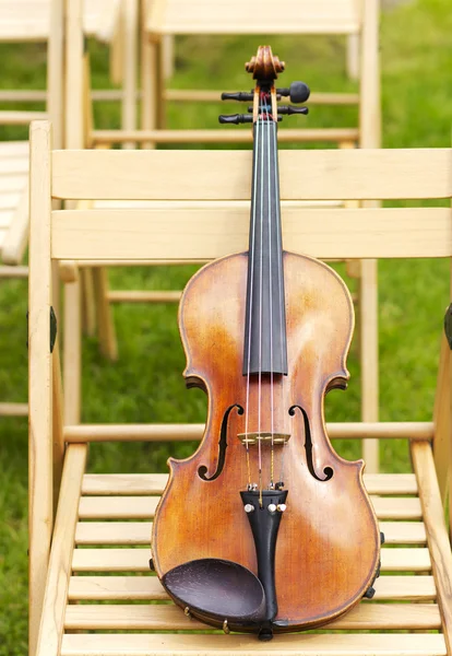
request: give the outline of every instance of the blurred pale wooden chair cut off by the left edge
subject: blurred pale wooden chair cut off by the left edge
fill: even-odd
[[[62,4],[61,0],[0,2],[0,42],[47,42],[47,91],[39,92],[46,112],[1,110],[0,125],[25,126],[50,117],[55,144],[62,143]],[[0,102],[34,101],[36,92],[0,91]],[[0,142],[0,280],[26,279],[21,266],[28,242],[28,142]],[[26,417],[27,403],[1,402],[0,417]]]

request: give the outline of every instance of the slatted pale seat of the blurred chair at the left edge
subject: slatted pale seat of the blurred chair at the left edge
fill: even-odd
[[[1,4],[0,4],[1,7]],[[25,247],[28,225],[28,142],[0,142],[0,261],[3,247],[19,263]]]

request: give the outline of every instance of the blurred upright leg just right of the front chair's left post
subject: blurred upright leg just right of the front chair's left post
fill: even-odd
[[[66,424],[80,423],[82,356],[81,314],[81,285],[79,277],[75,282],[69,282],[64,285],[63,380]]]

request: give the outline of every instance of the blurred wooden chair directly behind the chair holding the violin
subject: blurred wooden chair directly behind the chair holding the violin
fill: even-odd
[[[352,128],[282,128],[279,142],[309,143],[326,142],[340,148],[377,148],[380,144],[380,80],[378,57],[379,8],[378,0],[341,0],[334,5],[318,4],[304,0],[302,2],[285,1],[276,12],[271,4],[262,3],[259,12],[247,15],[249,7],[230,7],[227,3],[201,2],[187,5],[178,0],[156,0],[143,4],[142,8],[142,124],[141,130],[99,130],[91,119],[91,102],[86,101],[90,84],[83,82],[84,68],[82,63],[82,19],[81,0],[69,0],[71,23],[68,30],[68,68],[70,80],[68,84],[71,101],[68,106],[80,107],[73,117],[84,115],[88,119],[79,120],[75,125],[72,118],[68,120],[68,145],[72,148],[109,148],[114,143],[136,143],[150,145],[183,145],[198,143],[250,143],[249,129],[163,129],[165,101],[178,102],[180,112],[183,105],[191,101],[214,101],[219,98],[219,91],[167,91],[164,75],[164,47],[168,38],[178,35],[235,35],[264,33],[266,35],[343,35],[347,38],[359,39],[359,91],[358,93],[322,93],[314,91],[309,99],[313,105],[358,105],[358,125]],[[245,13],[243,13],[245,12]],[[267,38],[267,36],[266,36]],[[250,54],[251,55],[251,54]],[[283,55],[283,54],[281,54]],[[356,67],[355,67],[356,68]],[[286,73],[287,74],[287,73]],[[328,72],[325,72],[325,75]],[[84,93],[82,92],[84,90]],[[85,101],[83,101],[85,97]],[[71,124],[71,125],[70,125]],[[70,137],[69,134],[72,134]],[[343,204],[342,199],[332,201]],[[347,201],[350,207],[354,201]],[[306,203],[305,203],[306,204]],[[310,203],[312,204],[312,203]],[[368,203],[369,204],[369,203]],[[92,262],[95,265],[95,262]],[[121,266],[120,262],[110,265]],[[85,267],[84,267],[85,269]],[[377,262],[366,260],[350,262],[349,272],[359,277],[360,303],[360,349],[361,349],[361,417],[364,421],[378,419],[378,300],[377,300]],[[68,281],[74,274],[69,274]],[[72,282],[74,282],[72,280]],[[177,302],[180,291],[153,292],[109,290],[106,271],[96,267],[93,273],[81,273],[81,282],[85,290],[83,295],[85,315],[98,317],[98,329],[102,351],[110,359],[117,356],[115,327],[111,319],[111,303],[162,303]],[[80,298],[80,290],[74,283],[67,293]],[[94,304],[91,301],[94,298]],[[97,311],[94,309],[97,307]],[[81,315],[75,316],[74,304],[67,304],[71,316],[64,324],[71,331],[68,350],[64,352],[64,387],[69,389],[66,397],[67,412],[73,421],[80,418],[80,358],[81,345],[76,345],[75,331],[81,326]],[[71,309],[69,309],[71,308]],[[93,321],[91,320],[93,325]],[[80,330],[79,330],[80,332]],[[80,338],[79,338],[80,341]],[[71,344],[71,345],[69,345]],[[378,444],[365,442],[365,459],[368,471],[378,471]]]

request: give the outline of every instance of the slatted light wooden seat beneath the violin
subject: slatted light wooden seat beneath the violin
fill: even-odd
[[[271,643],[210,631],[169,602],[148,569],[152,519],[166,481],[166,475],[84,475],[62,655],[445,655],[444,639],[435,633],[441,619],[414,473],[365,476],[385,535],[373,599],[332,622],[329,631],[341,631],[333,636],[287,634]],[[110,630],[116,633],[100,633]],[[382,633],[356,633],[370,630]],[[412,630],[418,633],[392,633]]]

